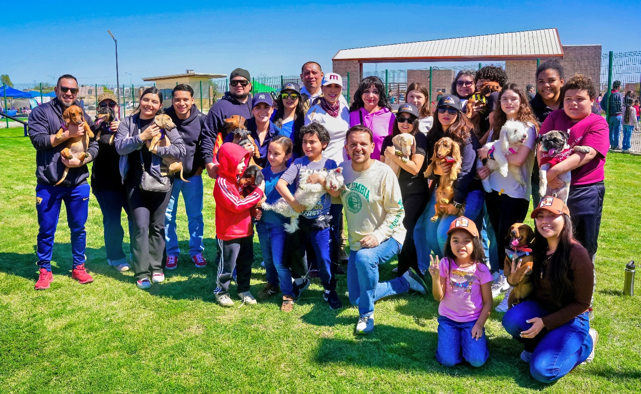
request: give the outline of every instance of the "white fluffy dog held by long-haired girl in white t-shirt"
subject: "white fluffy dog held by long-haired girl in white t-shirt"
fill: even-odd
[[[516,153],[527,138],[528,133],[526,126],[522,122],[518,120],[508,120],[505,122],[503,127],[501,127],[499,139],[494,142],[488,142],[483,146],[490,149],[490,151],[494,149],[494,160],[488,159],[486,164],[490,169],[490,173],[498,170],[503,177],[506,177],[509,171],[519,185],[525,185],[520,167],[508,164],[507,156],[508,154]],[[481,160],[478,160],[476,165],[477,167],[481,167],[483,163]],[[490,177],[486,177],[482,182],[485,191],[491,193],[492,186],[490,186]]]

